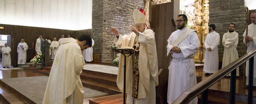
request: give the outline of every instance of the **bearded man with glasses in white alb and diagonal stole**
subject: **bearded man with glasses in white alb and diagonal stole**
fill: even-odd
[[[167,56],[171,54],[167,103],[172,104],[184,91],[196,85],[196,67],[193,57],[199,49],[197,31],[186,27],[188,17],[178,15],[177,31],[167,40]],[[189,104],[197,104],[197,97]]]

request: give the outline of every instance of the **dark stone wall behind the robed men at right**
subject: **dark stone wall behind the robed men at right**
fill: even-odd
[[[223,57],[224,46],[222,44],[223,34],[229,31],[230,23],[236,25],[235,31],[239,34],[237,51],[239,57],[244,55],[245,44],[243,43],[243,33],[246,29],[246,13],[244,12],[244,0],[209,0],[209,24],[215,24],[215,31],[219,33],[221,40],[218,46],[219,59]],[[242,74],[240,66],[240,75]]]

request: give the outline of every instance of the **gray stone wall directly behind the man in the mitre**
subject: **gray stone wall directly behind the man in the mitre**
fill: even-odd
[[[101,53],[101,61],[113,61],[114,52],[111,44],[114,34],[110,28],[117,28],[120,35],[131,33],[130,26],[134,26],[133,10],[144,9],[143,0],[93,0],[92,39],[94,52]],[[117,53],[115,53],[117,54]]]

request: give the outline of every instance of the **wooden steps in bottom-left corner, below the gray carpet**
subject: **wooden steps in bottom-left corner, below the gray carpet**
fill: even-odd
[[[0,80],[0,99],[5,104],[37,104]]]

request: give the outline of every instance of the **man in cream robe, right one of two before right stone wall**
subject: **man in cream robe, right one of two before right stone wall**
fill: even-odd
[[[235,24],[231,23],[229,25],[229,31],[224,33],[222,37],[222,44],[224,45],[222,68],[239,58],[237,52],[238,33],[234,31],[235,26]],[[229,73],[227,76],[230,75],[231,73]],[[239,67],[236,69],[236,76],[239,76]]]

